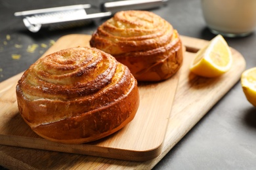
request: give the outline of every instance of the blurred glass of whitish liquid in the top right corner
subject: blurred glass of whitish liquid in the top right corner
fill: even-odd
[[[201,0],[203,17],[212,33],[244,37],[256,27],[255,0]]]

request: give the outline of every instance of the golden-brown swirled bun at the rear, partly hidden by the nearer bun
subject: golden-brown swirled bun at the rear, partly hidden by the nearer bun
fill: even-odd
[[[165,80],[182,64],[177,30],[148,11],[117,12],[96,29],[90,45],[127,65],[138,81]]]

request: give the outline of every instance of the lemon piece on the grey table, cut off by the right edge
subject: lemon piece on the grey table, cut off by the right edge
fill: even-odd
[[[242,73],[241,84],[247,101],[256,107],[256,67]]]

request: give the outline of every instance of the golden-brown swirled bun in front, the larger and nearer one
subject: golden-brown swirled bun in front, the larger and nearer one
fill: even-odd
[[[129,69],[96,48],[68,48],[39,59],[18,81],[16,95],[33,131],[59,143],[106,137],[131,122],[139,107]]]

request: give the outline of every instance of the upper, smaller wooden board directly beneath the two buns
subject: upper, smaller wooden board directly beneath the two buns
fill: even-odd
[[[66,35],[44,56],[65,48],[89,46],[90,39],[90,35]],[[150,160],[161,153],[179,74],[163,82],[139,83],[140,105],[133,121],[109,137],[85,144],[54,143],[36,135],[18,112],[15,86],[19,78],[13,78],[14,82],[5,86],[10,88],[0,93],[0,144],[135,161]]]

